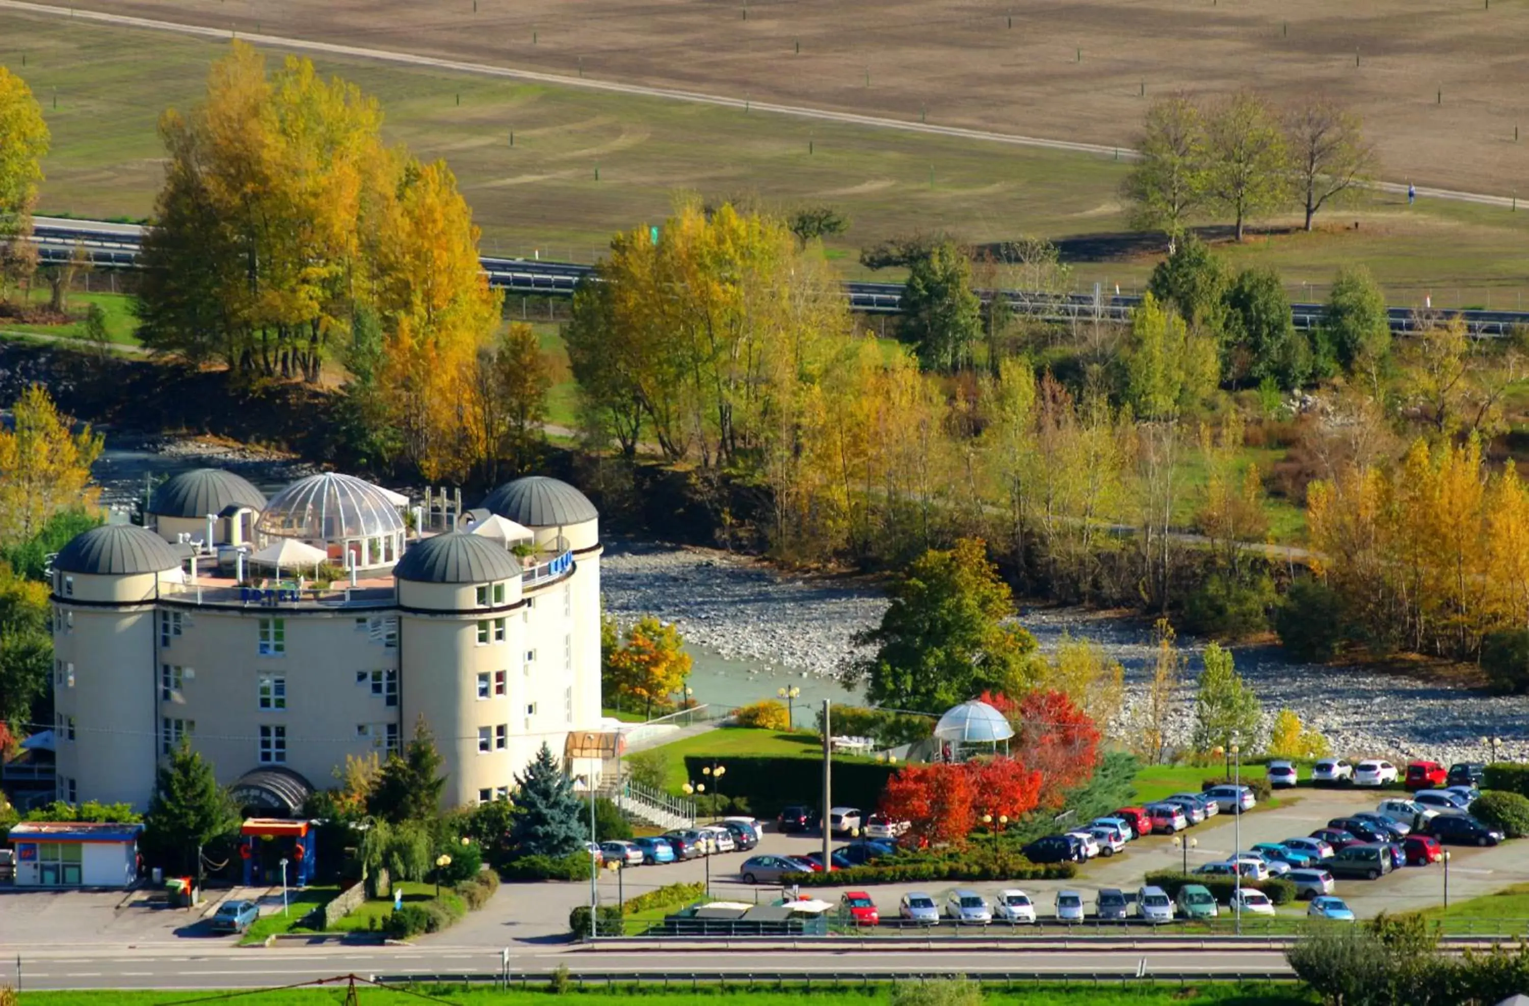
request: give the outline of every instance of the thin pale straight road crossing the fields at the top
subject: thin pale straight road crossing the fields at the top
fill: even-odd
[[[202,38],[229,38],[232,32],[226,28],[209,28],[203,24],[183,24],[179,21],[164,21],[145,17],[130,17],[125,14],[106,14],[101,11],[78,11],[67,6],[47,3],[26,3],[24,0],[0,0],[0,8],[26,11],[29,14],[47,14],[55,17],[72,17],[84,21],[106,24],[121,24],[124,28],[141,28],[151,31],[168,31],[182,35],[197,35]],[[746,98],[729,98],[726,95],[709,95],[694,90],[671,87],[647,87],[641,84],[622,84],[619,81],[601,81],[587,76],[564,76],[561,73],[543,73],[538,70],[517,70],[488,63],[466,63],[462,60],[442,60],[411,52],[396,52],[390,49],[370,49],[364,46],[346,46],[338,43],[315,41],[309,38],[291,38],[284,35],[265,35],[258,32],[237,32],[239,38],[255,44],[278,46],[283,49],[298,49],[306,52],[323,52],[327,55],[352,57],[361,60],[376,60],[382,63],[399,63],[405,66],[420,66],[436,70],[453,70],[459,73],[474,73],[480,76],[498,76],[509,80],[534,81],[541,84],[557,84],[560,87],[581,87],[586,90],[605,90],[622,95],[641,95],[647,98],[665,98],[670,101],[687,101],[693,104],[722,105],[728,109],[748,109],[751,112],[772,112],[789,115],[798,119],[813,119],[820,122],[841,122],[846,125],[864,125],[870,128],[893,128],[908,133],[925,133],[931,136],[954,136],[960,139],[976,139],[994,144],[1012,144],[1017,147],[1040,147],[1047,150],[1067,150],[1073,153],[1102,154],[1110,157],[1133,159],[1136,154],[1127,147],[1110,147],[1104,144],[1079,144],[1067,139],[1050,139],[1043,136],[1018,136],[1014,133],[997,133],[991,130],[960,128],[954,125],[936,125],[930,122],[913,122],[905,119],[888,119],[884,116],[858,115],[853,112],[833,112],[829,109],[810,109],[803,105],[783,105],[768,101],[748,101]],[[1407,193],[1402,182],[1378,182],[1376,188],[1387,193]],[[1512,196],[1492,196],[1485,193],[1463,193],[1446,188],[1419,187],[1417,194],[1427,199],[1451,199],[1482,203],[1489,206],[1514,206]]]

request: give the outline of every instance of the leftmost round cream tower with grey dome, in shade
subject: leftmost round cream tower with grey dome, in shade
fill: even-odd
[[[54,558],[63,800],[148,806],[162,748],[154,601],[161,584],[185,581],[180,561],[164,538],[128,524],[92,527]]]

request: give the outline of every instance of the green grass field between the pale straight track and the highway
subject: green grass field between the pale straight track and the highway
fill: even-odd
[[[485,21],[495,32],[508,17],[502,3],[483,0],[486,8],[500,6],[497,20]],[[618,0],[602,3],[621,6]],[[119,6],[153,5],[113,9]],[[388,0],[382,6],[398,5]],[[688,0],[673,6],[694,14]],[[849,12],[856,5],[842,6]],[[275,31],[277,21],[301,12],[303,23],[321,32],[330,11],[312,8],[306,0],[275,5],[266,29]],[[1312,5],[1301,9],[1310,14],[1307,8]],[[248,6],[193,0],[159,12],[194,18],[214,9],[222,24],[237,21]],[[659,21],[668,15],[653,12]],[[335,8],[333,18],[342,17],[349,15]],[[398,23],[410,17],[399,12]],[[456,44],[451,23],[457,15],[431,8],[430,17],[439,17],[440,31],[414,32],[410,40],[425,47]],[[1058,9],[1055,17],[1073,14]],[[907,28],[899,18],[905,18],[901,9],[888,15],[890,31]],[[390,23],[372,14],[367,20]],[[511,20],[524,18],[517,14]],[[628,21],[615,17],[610,24]],[[604,38],[607,28],[590,29],[590,38]],[[382,44],[387,31],[368,29],[358,41]],[[543,44],[569,44],[557,40],[557,31],[543,31]],[[639,41],[635,37],[631,46]],[[937,49],[939,41],[931,44]],[[187,107],[197,99],[206,66],[220,52],[222,43],[208,40],[0,12],[0,63],[29,80],[54,130],[41,209],[98,217],[150,214],[162,170],[154,122],[167,105]],[[512,55],[517,61],[526,57]],[[676,72],[722,73],[728,58],[708,54]],[[1095,281],[1105,289],[1139,286],[1157,255],[1151,242],[1122,235],[1118,187],[1124,165],[1109,157],[515,84],[359,58],[321,57],[318,64],[382,101],[390,139],[408,142],[420,156],[450,161],[491,254],[540,252],[543,258],[590,261],[613,231],[659,222],[674,193],[694,191],[708,199],[751,197],[777,208],[807,202],[841,208],[852,228],[829,251],[850,275],[865,272],[856,261],[861,246],[920,229],[945,229],[972,242],[1052,237],[1063,243],[1084,287]],[[969,69],[962,63],[951,72],[960,76]],[[992,124],[1001,125],[997,119],[1009,104],[994,93],[985,107]],[[1131,109],[1139,115],[1139,102]],[[1350,229],[1355,220],[1358,231]],[[1280,268],[1297,297],[1321,297],[1323,284],[1346,261],[1368,263],[1388,284],[1393,303],[1420,303],[1431,295],[1436,306],[1503,307],[1517,306],[1529,290],[1529,211],[1430,200],[1408,208],[1401,197],[1376,197],[1359,209],[1330,214],[1327,225],[1330,229],[1315,234],[1257,235],[1231,254],[1240,263]]]

